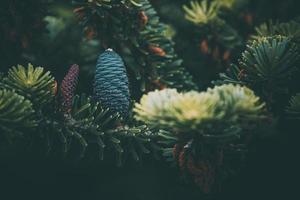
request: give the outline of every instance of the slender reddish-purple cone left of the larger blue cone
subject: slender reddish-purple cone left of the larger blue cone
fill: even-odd
[[[70,113],[72,109],[72,100],[78,83],[79,66],[74,64],[69,69],[67,75],[61,83],[62,110]]]

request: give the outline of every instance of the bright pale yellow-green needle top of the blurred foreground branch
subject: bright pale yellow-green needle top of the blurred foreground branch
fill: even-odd
[[[252,90],[229,84],[201,93],[178,93],[174,89],[150,92],[134,111],[137,120],[150,126],[179,134],[208,134],[209,138],[210,134],[222,137],[225,127],[243,127],[261,119],[263,107]]]

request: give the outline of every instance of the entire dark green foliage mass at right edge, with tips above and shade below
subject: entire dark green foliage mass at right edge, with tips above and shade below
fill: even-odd
[[[267,101],[269,109],[282,112],[288,99],[299,91],[294,85],[300,63],[295,23],[257,28],[238,64],[220,74],[221,82],[247,85]]]

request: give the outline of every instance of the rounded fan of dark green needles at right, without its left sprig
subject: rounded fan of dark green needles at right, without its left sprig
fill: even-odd
[[[253,41],[242,54],[240,67],[250,82],[283,80],[295,70],[299,60],[297,48],[284,36],[265,37]]]

